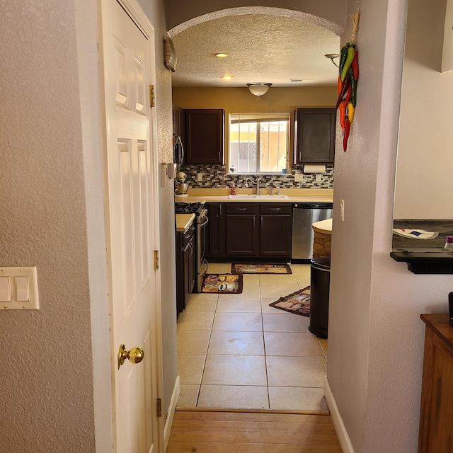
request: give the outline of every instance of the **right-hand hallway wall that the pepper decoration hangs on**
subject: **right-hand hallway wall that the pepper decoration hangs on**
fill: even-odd
[[[446,312],[451,291],[451,276],[414,275],[389,257],[405,8],[361,4],[357,110],[348,151],[336,153],[328,382],[356,453],[417,450],[419,316]]]

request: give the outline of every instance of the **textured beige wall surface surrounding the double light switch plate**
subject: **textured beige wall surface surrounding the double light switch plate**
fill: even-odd
[[[74,1],[1,2],[0,263],[39,311],[0,311],[0,451],[94,452]]]

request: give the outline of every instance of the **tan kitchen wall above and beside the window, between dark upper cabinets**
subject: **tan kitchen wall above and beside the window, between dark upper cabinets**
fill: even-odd
[[[261,98],[244,88],[173,88],[173,103],[180,108],[223,108],[225,110],[225,156],[228,164],[230,113],[289,113],[291,115],[290,154],[293,149],[295,108],[334,108],[336,86],[270,87]],[[292,160],[292,158],[291,158]]]

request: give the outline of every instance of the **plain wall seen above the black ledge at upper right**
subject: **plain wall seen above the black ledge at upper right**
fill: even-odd
[[[446,0],[408,8],[395,219],[453,219],[453,72],[440,72],[445,9]]]

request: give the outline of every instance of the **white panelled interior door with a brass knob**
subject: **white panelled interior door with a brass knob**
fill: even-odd
[[[103,0],[102,17],[114,365],[122,344],[144,351],[142,362],[126,359],[113,371],[115,452],[156,453],[158,222],[149,107],[154,36],[142,33],[116,0]]]

